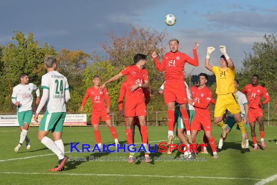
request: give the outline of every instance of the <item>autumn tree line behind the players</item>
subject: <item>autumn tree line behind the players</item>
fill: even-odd
[[[133,56],[137,53],[147,55],[147,70],[150,78],[151,102],[149,111],[166,111],[163,96],[158,94],[158,88],[163,83],[163,73],[158,73],[152,61],[151,53],[156,51],[161,61],[163,55],[169,51],[168,45],[164,45],[166,32],[157,32],[151,28],[136,28],[131,26],[131,31],[119,37],[114,32],[106,34],[110,42],[100,43],[106,58],[99,57],[96,53],[90,55],[84,51],[62,49],[56,51],[47,43],[39,47],[34,40],[33,33],[25,36],[22,32],[15,32],[12,42],[0,45],[0,112],[16,112],[11,102],[13,87],[19,83],[18,75],[27,73],[30,82],[40,86],[41,76],[46,73],[43,59],[53,55],[57,58],[57,71],[64,74],[69,81],[70,101],[69,112],[78,112],[82,99],[88,87],[93,85],[92,76],[99,74],[102,82],[111,76],[118,74],[125,66],[133,64]],[[201,61],[199,61],[201,62]],[[260,75],[260,82],[265,84],[272,100],[276,101],[277,80],[277,40],[274,35],[264,35],[264,41],[255,42],[252,52],[245,53],[242,67],[237,70],[236,78],[240,80],[240,87],[250,82],[253,74]],[[186,74],[186,72],[184,72]],[[185,75],[186,76],[186,75]],[[209,75],[208,86],[215,94],[215,76]],[[111,98],[111,111],[118,111],[118,97],[121,82],[108,84],[107,89]],[[190,80],[190,81],[189,81]],[[186,76],[188,84],[196,84],[198,75]],[[273,101],[271,101],[273,102]],[[271,103],[274,109],[274,103]],[[34,105],[34,110],[36,106]],[[87,101],[85,111],[91,110],[91,102]]]

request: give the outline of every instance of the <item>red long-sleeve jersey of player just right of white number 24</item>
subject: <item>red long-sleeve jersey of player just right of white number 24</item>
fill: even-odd
[[[107,101],[107,107],[110,107],[110,104],[111,104],[110,97],[109,97],[109,93],[106,88],[104,88],[102,92],[99,91],[99,88],[95,89],[94,86],[88,88],[86,95],[82,102],[83,107],[85,106],[85,104],[87,102],[88,96],[90,96],[90,99],[92,102],[91,107],[92,107],[93,113],[106,110],[105,99]]]

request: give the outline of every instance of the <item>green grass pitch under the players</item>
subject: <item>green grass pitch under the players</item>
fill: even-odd
[[[258,127],[259,128],[259,127]],[[126,143],[125,128],[116,127],[121,144]],[[257,129],[257,128],[256,128]],[[126,161],[70,161],[64,172],[49,172],[48,168],[56,165],[58,159],[52,151],[36,139],[38,128],[29,129],[31,149],[27,150],[25,142],[16,153],[14,148],[18,144],[18,128],[0,128],[0,184],[237,184],[253,185],[262,179],[277,174],[277,127],[265,127],[265,150],[253,150],[250,138],[250,153],[241,149],[241,133],[232,130],[224,148],[218,153],[219,160],[213,160],[211,154],[199,153],[198,157],[207,157],[207,161],[164,161],[167,153],[155,152],[154,157],[162,157],[162,161],[151,163]],[[249,128],[248,134],[250,135]],[[259,131],[257,140],[260,141]],[[107,127],[100,127],[102,143],[114,143],[114,139]],[[214,126],[213,136],[218,143],[221,129]],[[51,137],[51,133],[48,135]],[[166,142],[167,127],[149,127],[149,142],[151,145]],[[127,157],[128,153],[70,153],[70,142],[81,144],[96,143],[91,127],[65,127],[63,142],[67,156],[71,157]],[[202,143],[203,131],[198,133],[197,143]],[[136,129],[135,143],[140,143],[140,135]],[[178,144],[178,140],[174,143]],[[81,149],[81,144],[78,148]],[[260,142],[258,142],[258,145]],[[259,145],[260,146],[260,145]],[[211,152],[208,147],[209,152]],[[174,151],[171,157],[181,153]],[[136,156],[144,156],[143,152]],[[277,184],[277,180],[269,184]]]

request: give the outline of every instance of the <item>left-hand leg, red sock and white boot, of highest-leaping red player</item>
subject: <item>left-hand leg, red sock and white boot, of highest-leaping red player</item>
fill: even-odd
[[[173,140],[175,139],[174,136],[174,109],[175,109],[175,102],[170,102],[166,104],[167,110],[168,110],[168,141],[167,144],[171,144]]]

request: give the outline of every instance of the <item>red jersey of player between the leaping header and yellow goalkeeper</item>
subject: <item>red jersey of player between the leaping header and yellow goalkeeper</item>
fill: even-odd
[[[194,102],[195,117],[210,116],[208,104],[211,101],[211,90],[208,87],[198,89],[197,86],[190,88],[192,100]]]

